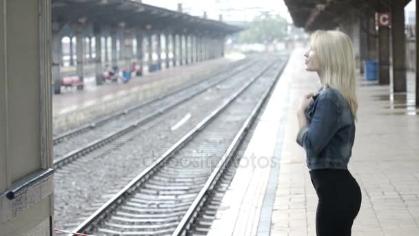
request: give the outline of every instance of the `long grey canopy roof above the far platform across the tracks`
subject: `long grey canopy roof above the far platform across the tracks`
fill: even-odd
[[[194,17],[134,0],[52,0],[52,21],[85,21],[108,26],[176,33],[229,35],[243,30],[222,21]]]

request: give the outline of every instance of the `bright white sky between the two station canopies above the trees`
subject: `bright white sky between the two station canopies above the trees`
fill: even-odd
[[[223,14],[224,21],[252,21],[260,12],[270,11],[292,22],[288,9],[281,0],[143,0],[143,3],[170,10],[177,10],[177,3],[182,3],[183,11],[188,14],[202,17],[206,11],[209,19],[218,19],[218,15]]]

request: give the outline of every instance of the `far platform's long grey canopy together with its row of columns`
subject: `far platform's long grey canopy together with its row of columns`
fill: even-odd
[[[92,59],[94,50],[91,69],[99,85],[105,65],[130,68],[135,61],[143,68],[143,62],[147,61],[150,72],[159,70],[163,47],[166,68],[223,57],[225,36],[242,29],[223,23],[222,18],[220,15],[218,21],[207,19],[205,12],[203,17],[184,14],[181,3],[178,10],[173,11],[144,4],[141,0],[52,0],[54,92],[61,92],[63,37],[70,38],[70,66],[76,67],[74,73],[81,81],[86,56]]]

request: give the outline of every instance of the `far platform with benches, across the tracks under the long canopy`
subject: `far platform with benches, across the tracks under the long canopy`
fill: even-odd
[[[147,73],[143,77],[132,77],[127,83],[106,83],[102,86],[96,86],[94,77],[88,77],[83,90],[68,88],[63,89],[62,94],[53,96],[54,133],[76,128],[103,115],[180,88],[194,79],[227,68],[229,63],[236,60],[235,57],[224,57],[200,61]]]

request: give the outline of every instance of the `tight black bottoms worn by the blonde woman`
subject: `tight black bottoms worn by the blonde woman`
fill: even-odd
[[[347,169],[317,169],[309,173],[318,197],[317,236],[351,235],[362,201],[356,179]]]

